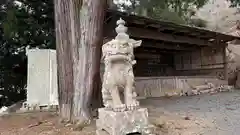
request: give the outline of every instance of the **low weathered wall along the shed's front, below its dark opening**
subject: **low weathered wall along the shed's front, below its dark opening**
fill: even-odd
[[[215,87],[227,85],[227,81],[212,76],[168,76],[168,77],[136,77],[136,91],[139,97],[162,97],[182,94],[190,87],[205,85],[206,82]]]

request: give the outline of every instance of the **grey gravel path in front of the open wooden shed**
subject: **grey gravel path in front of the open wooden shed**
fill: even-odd
[[[143,105],[164,107],[178,116],[189,116],[207,121],[211,126],[202,135],[239,135],[240,91],[170,99],[148,99]]]

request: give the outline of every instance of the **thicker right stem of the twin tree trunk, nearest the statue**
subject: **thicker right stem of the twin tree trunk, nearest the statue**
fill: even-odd
[[[79,122],[91,120],[93,97],[100,97],[100,56],[106,0],[82,0],[80,40],[73,53],[74,98],[73,117]],[[93,95],[94,94],[94,95]],[[96,100],[95,100],[96,101]],[[100,100],[98,100],[100,101]]]

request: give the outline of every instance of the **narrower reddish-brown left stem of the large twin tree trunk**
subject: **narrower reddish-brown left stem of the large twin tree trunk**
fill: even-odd
[[[60,116],[64,120],[71,120],[74,87],[70,46],[70,4],[67,0],[54,0],[54,2]]]

